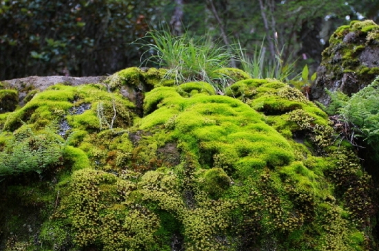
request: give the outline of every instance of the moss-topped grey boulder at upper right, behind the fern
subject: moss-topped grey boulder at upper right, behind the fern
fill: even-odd
[[[311,87],[311,99],[324,105],[330,101],[325,88],[350,96],[379,74],[379,26],[371,20],[351,21],[338,28],[329,43]]]

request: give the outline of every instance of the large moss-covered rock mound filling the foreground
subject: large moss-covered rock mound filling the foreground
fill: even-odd
[[[1,114],[0,249],[377,248],[371,178],[300,91],[239,72],[218,95],[164,71],[58,84]]]

